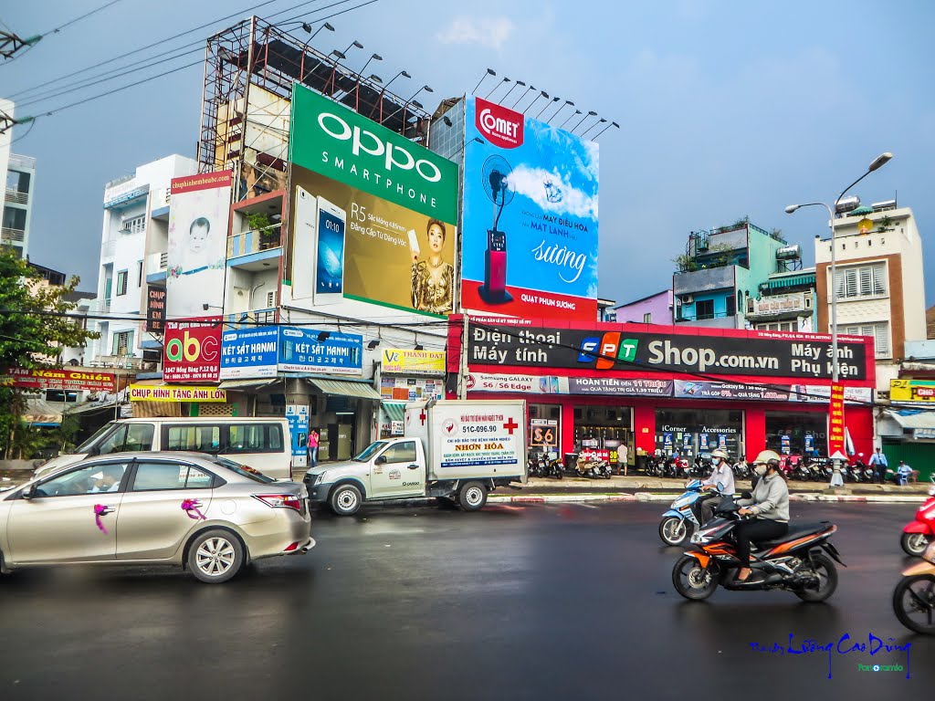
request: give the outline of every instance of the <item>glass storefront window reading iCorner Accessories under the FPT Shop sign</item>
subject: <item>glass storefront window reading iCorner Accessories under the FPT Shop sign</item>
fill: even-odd
[[[743,412],[733,409],[656,409],[655,448],[683,458],[715,448],[739,460],[743,449]]]

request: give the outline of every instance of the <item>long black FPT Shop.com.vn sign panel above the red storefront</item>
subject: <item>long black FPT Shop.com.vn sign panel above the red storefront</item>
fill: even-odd
[[[839,338],[845,379],[866,379],[862,338]],[[647,334],[583,329],[515,328],[475,324],[468,337],[468,363],[596,370],[656,370],[708,375],[830,378],[831,344],[801,334],[777,338]]]

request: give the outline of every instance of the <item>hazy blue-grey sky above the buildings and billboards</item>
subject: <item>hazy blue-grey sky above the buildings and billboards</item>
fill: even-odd
[[[204,40],[253,14],[240,10],[261,1],[121,0],[0,64],[0,97],[236,14],[156,50]],[[325,15],[366,1],[295,8],[301,3],[274,0],[255,13],[282,12],[277,21],[305,12],[318,26]],[[0,21],[29,36],[104,4],[5,3]],[[470,93],[489,67],[497,77],[482,82],[480,96],[509,77],[618,122],[620,129],[597,139],[598,291],[618,302],[670,287],[672,259],[683,253],[689,232],[744,216],[761,228],[782,229],[813,265],[814,236],[827,236],[827,214],[809,207],[787,215],[784,207],[833,202],[877,155],[892,151],[893,160],[853,193],[864,204],[896,196],[900,206],[912,207],[926,247],[930,304],[933,20],[935,4],[928,0],[376,0],[328,19],[336,31],[321,32],[313,45],[327,53],[359,41],[365,49],[349,51],[346,63],[360,68],[370,53],[380,54],[383,61],[367,73],[386,80],[407,70],[411,91],[403,79],[394,91],[408,96],[432,86],[434,93],[419,97],[429,111],[444,97]],[[299,29],[297,36],[308,35]],[[12,150],[37,159],[34,262],[77,274],[80,289],[95,289],[104,184],[171,153],[194,157],[202,82],[203,67],[196,65],[40,117],[28,134],[16,128]],[[17,114],[41,115],[119,84],[51,95]]]

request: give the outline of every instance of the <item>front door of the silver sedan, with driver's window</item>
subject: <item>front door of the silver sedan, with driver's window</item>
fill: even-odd
[[[31,497],[21,494],[7,520],[10,562],[40,565],[114,560],[122,487],[129,465],[124,461],[79,464],[39,482]],[[104,484],[105,478],[108,484]]]

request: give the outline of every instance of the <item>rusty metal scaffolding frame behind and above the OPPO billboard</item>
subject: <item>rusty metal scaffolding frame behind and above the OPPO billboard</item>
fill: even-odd
[[[258,17],[210,36],[205,56],[198,164],[231,169],[235,201],[284,190],[293,83],[350,107],[412,141],[427,143],[429,114]]]

